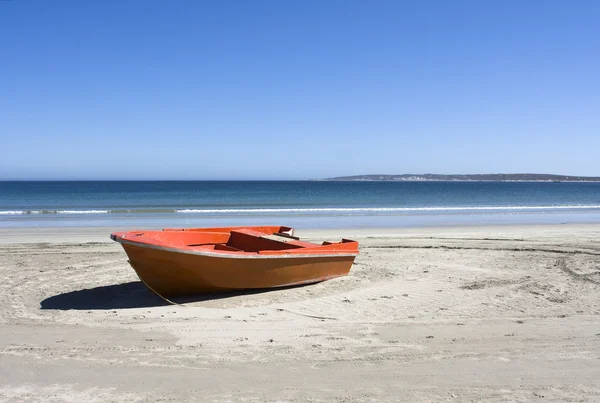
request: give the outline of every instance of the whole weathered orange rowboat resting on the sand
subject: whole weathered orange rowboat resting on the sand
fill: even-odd
[[[289,227],[115,232],[140,279],[163,297],[316,283],[345,276],[358,242],[303,242]]]

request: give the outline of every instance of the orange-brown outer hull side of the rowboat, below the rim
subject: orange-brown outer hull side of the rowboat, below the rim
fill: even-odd
[[[123,243],[139,278],[163,297],[310,284],[345,276],[355,255],[226,256]]]

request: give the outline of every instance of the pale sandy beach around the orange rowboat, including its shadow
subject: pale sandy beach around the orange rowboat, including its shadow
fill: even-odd
[[[0,401],[600,401],[600,225],[300,231],[350,275],[184,306],[109,233],[0,230]]]

